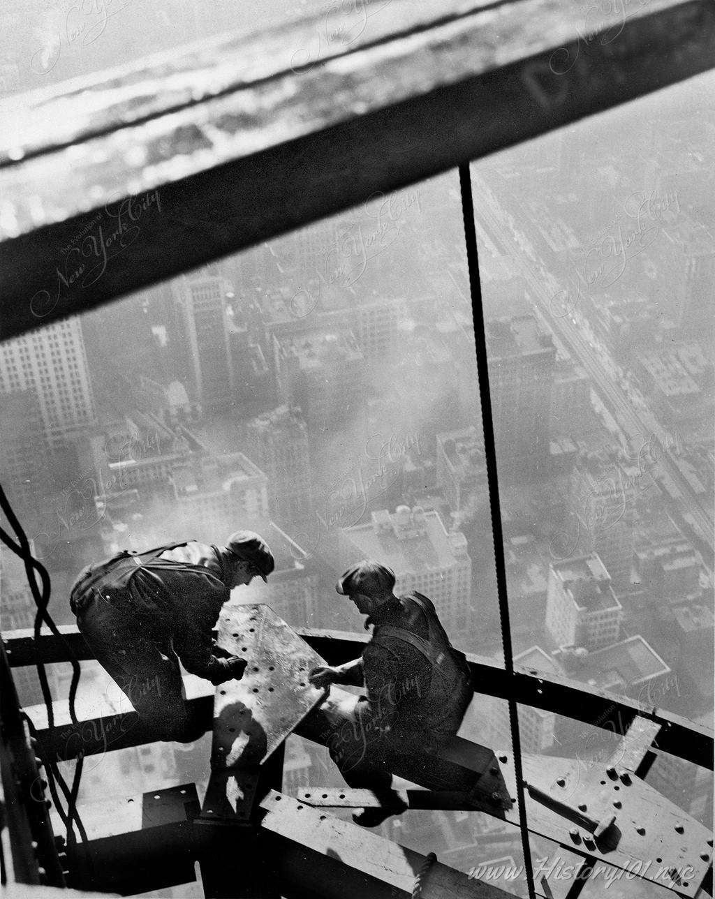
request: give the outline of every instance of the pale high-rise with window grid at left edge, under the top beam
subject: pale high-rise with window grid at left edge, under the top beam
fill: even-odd
[[[79,318],[0,343],[0,396],[33,390],[50,448],[72,441],[95,422]]]

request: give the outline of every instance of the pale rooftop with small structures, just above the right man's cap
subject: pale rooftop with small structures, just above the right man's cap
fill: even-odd
[[[380,559],[398,577],[449,568],[467,553],[463,534],[447,533],[437,512],[424,512],[419,506],[372,512],[372,521],[342,533],[362,556]]]

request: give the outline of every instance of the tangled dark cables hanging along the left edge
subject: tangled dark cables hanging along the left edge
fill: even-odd
[[[35,643],[39,642],[41,623],[44,620],[48,625],[51,633],[55,636],[61,637],[64,640],[65,645],[67,645],[67,649],[69,650],[69,654],[71,655],[70,661],[72,664],[72,682],[69,688],[68,704],[70,720],[73,724],[76,725],[78,721],[75,710],[75,698],[77,685],[79,684],[79,679],[82,672],[79,666],[79,662],[76,660],[75,654],[72,652],[70,645],[67,643],[67,639],[60,633],[57,625],[49,614],[48,606],[50,582],[48,571],[45,566],[42,565],[40,561],[38,561],[38,559],[32,556],[30,541],[27,539],[27,535],[22,529],[20,521],[18,521],[17,516],[13,512],[13,508],[10,505],[7,496],[5,495],[2,485],[0,485],[0,508],[2,508],[7,521],[10,522],[10,525],[13,528],[15,536],[17,537],[17,542],[15,542],[15,540],[13,540],[3,528],[0,528],[0,539],[3,540],[4,544],[7,547],[13,550],[13,553],[15,553],[16,556],[22,558],[22,561],[25,565],[25,574],[27,574],[27,580],[30,584],[32,599],[35,601],[35,605],[37,606],[33,639]],[[40,575],[41,591],[37,585],[36,574]],[[44,699],[45,708],[47,709],[48,729],[51,731],[55,726],[55,717],[52,708],[52,695],[49,690],[49,682],[47,680],[47,673],[45,672],[45,666],[43,663],[39,662],[37,664],[37,672],[38,677],[40,678],[40,690],[42,691],[42,699]],[[36,729],[32,726],[30,718],[27,717],[27,715],[25,715],[25,720],[28,722],[28,725],[31,728],[31,732],[33,734],[37,734]],[[38,741],[38,746],[39,745],[40,742]],[[55,803],[55,807],[57,808],[62,823],[64,823],[67,827],[67,844],[72,845],[76,842],[75,832],[72,826],[73,820],[76,822],[77,829],[80,832],[82,840],[86,842],[87,835],[85,832],[85,827],[82,823],[82,819],[80,818],[79,813],[76,810],[76,797],[79,792],[79,783],[80,778],[82,777],[83,768],[82,753],[77,756],[75,773],[71,788],[67,787],[67,782],[62,776],[62,772],[59,770],[56,760],[43,758],[43,761],[45,763],[45,769],[48,773],[50,794],[52,795],[52,799]],[[58,802],[58,793],[55,782],[57,782],[59,787],[62,789],[62,792],[67,799],[67,813],[64,812]]]

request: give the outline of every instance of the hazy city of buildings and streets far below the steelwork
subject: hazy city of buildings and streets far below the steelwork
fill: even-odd
[[[202,11],[179,7],[146,22],[179,43],[229,14],[219,4],[196,30]],[[51,18],[11,15],[26,42]],[[97,67],[147,53],[142,40],[97,41]],[[92,70],[75,51],[62,45],[59,80]],[[5,93],[40,86],[8,59]],[[693,79],[472,166],[515,663],[708,727],[712,96],[715,78]],[[67,247],[48,252],[67,263]],[[49,571],[58,624],[75,623],[68,592],[89,562],[250,528],[276,571],[231,602],[364,633],[335,580],[377,558],[397,592],[434,601],[454,645],[503,663],[456,172],[0,344],[0,422],[0,480]],[[22,565],[5,547],[0,558],[3,629],[30,628]],[[121,708],[102,669],[82,668],[80,717]],[[70,666],[49,671],[65,699]],[[13,674],[22,703],[39,705],[34,669]],[[566,716],[519,717],[524,753],[584,770],[615,744]],[[460,733],[511,750],[505,701],[477,693]],[[287,792],[342,784],[321,747],[288,747]],[[204,788],[209,761],[209,734],[109,752],[86,765],[80,800]],[[711,826],[711,772],[660,753],[648,783]],[[482,814],[414,812],[381,832],[460,870],[521,859],[519,832]],[[550,851],[532,840],[534,859]]]

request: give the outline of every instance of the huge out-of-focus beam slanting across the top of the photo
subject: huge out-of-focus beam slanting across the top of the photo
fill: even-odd
[[[3,337],[715,64],[710,0],[651,0],[610,42],[581,14],[495,4],[5,167]]]

